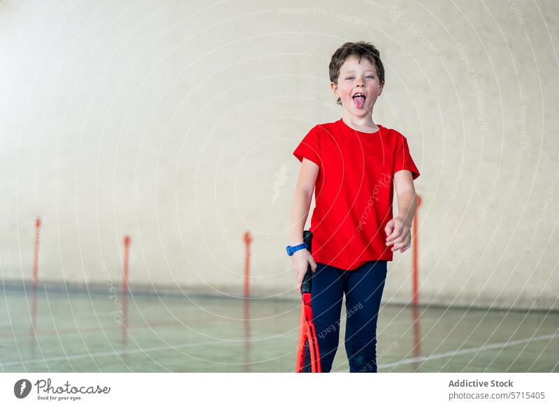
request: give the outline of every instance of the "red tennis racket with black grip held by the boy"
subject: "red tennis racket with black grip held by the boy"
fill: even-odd
[[[312,232],[303,231],[303,241],[311,252]],[[301,306],[301,322],[299,330],[299,343],[297,346],[297,362],[295,366],[296,373],[320,373],[320,353],[319,344],[317,342],[317,331],[314,329],[312,322],[311,307],[311,282],[312,269],[309,266],[303,283],[301,284],[301,296],[303,304]]]

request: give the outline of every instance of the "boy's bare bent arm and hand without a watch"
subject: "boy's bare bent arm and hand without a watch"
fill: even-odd
[[[394,188],[398,197],[398,215],[386,224],[386,245],[394,245],[392,251],[404,252],[412,242],[410,229],[417,207],[412,172],[401,170],[394,173]]]

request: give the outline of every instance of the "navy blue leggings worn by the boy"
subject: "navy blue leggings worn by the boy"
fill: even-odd
[[[344,294],[349,371],[377,371],[377,319],[385,280],[384,260],[367,262],[354,270],[317,263],[312,274],[312,316],[323,372],[331,371],[337,351]]]

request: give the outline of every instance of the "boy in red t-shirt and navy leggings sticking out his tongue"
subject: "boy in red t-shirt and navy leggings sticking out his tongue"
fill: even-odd
[[[318,124],[293,155],[301,162],[291,209],[289,245],[303,243],[312,191],[316,206],[312,254],[292,254],[297,288],[310,265],[312,310],[321,368],[331,371],[345,294],[345,348],[350,372],[377,371],[377,317],[386,263],[411,244],[419,171],[407,140],[375,124],[372,108],[384,87],[384,66],[374,45],[344,43],[332,56],[331,88],[342,105],[337,122]],[[398,216],[392,216],[393,188]]]

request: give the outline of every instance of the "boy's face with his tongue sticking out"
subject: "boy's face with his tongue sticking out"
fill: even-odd
[[[377,97],[384,83],[379,83],[377,69],[367,59],[349,57],[340,68],[337,83],[331,83],[336,99],[342,99],[342,107],[350,115],[363,117],[372,114]],[[355,96],[363,94],[363,96]]]

